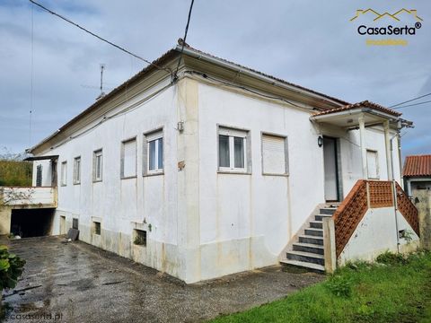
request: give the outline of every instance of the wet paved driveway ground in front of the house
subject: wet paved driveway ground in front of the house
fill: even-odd
[[[277,300],[324,278],[276,266],[186,285],[84,242],[63,240],[9,242],[27,264],[22,280],[4,296],[13,309],[6,321],[195,322]]]

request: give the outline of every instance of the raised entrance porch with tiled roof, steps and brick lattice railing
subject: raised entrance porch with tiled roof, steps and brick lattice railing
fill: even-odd
[[[412,124],[369,101],[310,119],[323,149],[325,203],[280,261],[332,272],[349,260],[373,260],[387,249],[402,252],[411,241],[409,247],[418,245],[418,210],[400,186],[400,129]],[[340,139],[346,141],[341,149]]]

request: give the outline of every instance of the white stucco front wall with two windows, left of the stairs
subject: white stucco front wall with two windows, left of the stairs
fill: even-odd
[[[303,110],[199,84],[201,279],[277,264],[323,200],[322,150]],[[217,125],[250,134],[251,174],[218,172]],[[287,136],[289,176],[262,175],[261,133]]]

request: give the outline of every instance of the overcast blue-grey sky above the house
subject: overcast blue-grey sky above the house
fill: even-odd
[[[175,46],[189,10],[189,0],[38,1],[149,60]],[[356,28],[376,22],[349,19],[356,9],[368,7],[379,13],[417,9],[422,27],[414,36],[391,37],[407,39],[406,47],[366,46],[365,39],[372,37],[358,35]],[[406,15],[401,20],[402,25],[415,22]],[[101,63],[109,88],[145,67],[57,17],[31,9],[27,0],[0,0],[0,41],[0,147],[15,153],[94,102]],[[426,0],[195,0],[188,43],[349,102],[391,106],[431,92],[431,2]],[[431,96],[418,102],[425,100]],[[416,125],[402,137],[403,154],[431,153],[431,104],[400,111]]]

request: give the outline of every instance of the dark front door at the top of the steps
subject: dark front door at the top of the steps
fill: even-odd
[[[325,170],[325,200],[339,201],[339,170],[337,139],[323,137],[323,163]]]

